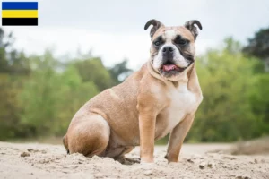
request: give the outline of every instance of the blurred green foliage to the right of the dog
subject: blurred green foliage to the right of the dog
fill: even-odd
[[[256,74],[254,57],[240,52],[227,38],[223,49],[209,50],[197,59],[204,100],[188,135],[191,141],[237,141],[269,133],[269,73]],[[266,83],[267,81],[267,83]],[[266,105],[267,104],[267,105]],[[267,116],[265,116],[267,114]]]

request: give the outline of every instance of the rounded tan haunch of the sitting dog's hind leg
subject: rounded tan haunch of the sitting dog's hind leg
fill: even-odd
[[[74,119],[66,135],[71,154],[78,152],[91,158],[107,148],[110,127],[101,115],[91,113]]]

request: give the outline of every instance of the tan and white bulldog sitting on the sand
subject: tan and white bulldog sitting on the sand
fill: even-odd
[[[125,162],[134,160],[125,154],[140,146],[141,162],[152,163],[154,141],[169,133],[165,158],[178,162],[203,99],[195,71],[196,26],[202,30],[202,25],[194,20],[166,27],[150,20],[144,30],[151,25],[150,59],[126,81],[102,91],[79,109],[63,139],[67,153]]]

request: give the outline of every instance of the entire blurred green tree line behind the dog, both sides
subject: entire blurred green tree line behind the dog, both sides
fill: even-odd
[[[269,73],[239,42],[224,40],[196,59],[204,101],[187,141],[238,141],[269,134]],[[268,52],[269,53],[269,52]],[[256,56],[256,57],[253,57]],[[50,51],[25,56],[0,29],[0,140],[63,136],[82,105],[131,72],[83,55],[63,63]],[[164,141],[167,141],[165,138]]]

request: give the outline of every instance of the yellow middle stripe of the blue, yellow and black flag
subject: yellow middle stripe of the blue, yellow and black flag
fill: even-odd
[[[38,10],[2,10],[2,18],[38,18]]]

